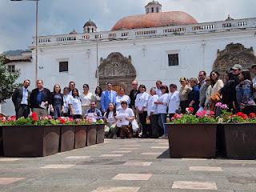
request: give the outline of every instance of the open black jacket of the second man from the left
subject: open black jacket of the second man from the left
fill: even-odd
[[[37,96],[38,96],[38,89],[32,90],[32,93],[30,95],[30,107],[31,108],[41,108],[40,105],[38,105],[37,102]],[[51,104],[51,99],[50,99],[50,90],[44,88],[42,90],[42,102],[48,102],[49,105]]]

